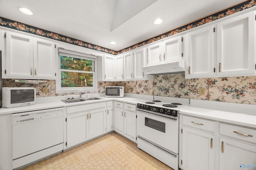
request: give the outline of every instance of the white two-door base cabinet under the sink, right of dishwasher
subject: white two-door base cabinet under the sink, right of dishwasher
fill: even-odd
[[[66,149],[106,132],[106,102],[67,107]]]

